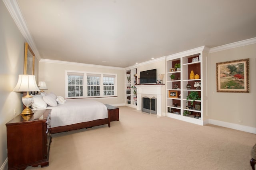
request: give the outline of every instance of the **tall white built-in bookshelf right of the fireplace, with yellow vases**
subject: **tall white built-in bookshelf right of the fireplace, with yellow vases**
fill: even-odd
[[[195,124],[206,124],[207,55],[208,48],[203,46],[166,57],[166,116]],[[180,64],[180,70],[174,69],[175,64]],[[191,72],[198,75],[190,78]],[[171,75],[175,75],[173,79],[170,78]],[[190,100],[187,99],[189,94],[198,94],[199,97]]]

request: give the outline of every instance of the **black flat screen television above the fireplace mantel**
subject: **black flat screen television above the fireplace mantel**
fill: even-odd
[[[156,68],[140,72],[140,84],[156,84]]]

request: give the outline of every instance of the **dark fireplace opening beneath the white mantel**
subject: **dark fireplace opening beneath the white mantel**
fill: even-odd
[[[143,97],[142,98],[142,106],[141,106],[141,111],[146,112],[146,113],[152,113],[156,114],[157,113],[157,101],[156,98],[148,98],[148,97]]]

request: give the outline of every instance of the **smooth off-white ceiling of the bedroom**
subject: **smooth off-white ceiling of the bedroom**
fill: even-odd
[[[127,67],[256,37],[256,0],[17,0],[40,58]]]

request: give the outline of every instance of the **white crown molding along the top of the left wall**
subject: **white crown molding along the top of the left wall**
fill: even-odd
[[[25,38],[26,42],[28,42],[29,46],[32,48],[35,53],[38,61],[41,60],[40,54],[36,48],[36,44],[34,42],[33,37],[31,36],[26,21],[24,20],[22,13],[20,11],[20,7],[16,0],[3,0],[7,10],[10,12],[14,22],[16,23],[18,29],[20,30],[22,36]]]

